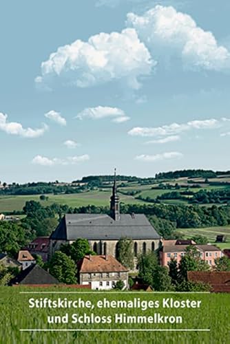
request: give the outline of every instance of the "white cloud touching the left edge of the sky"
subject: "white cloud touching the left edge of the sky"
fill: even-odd
[[[23,128],[19,122],[8,122],[8,115],[0,112],[0,130],[11,135],[22,136],[23,138],[38,138],[48,130],[48,126],[43,124],[43,127],[40,129]]]

